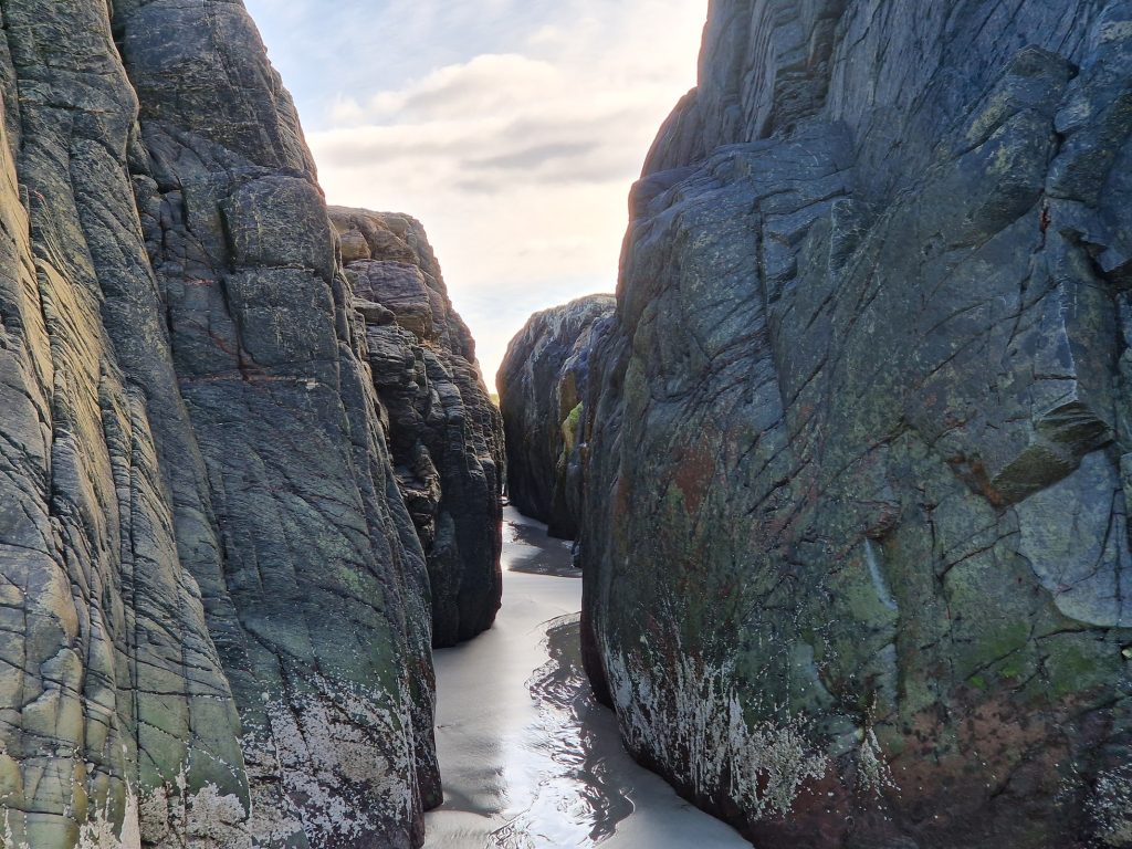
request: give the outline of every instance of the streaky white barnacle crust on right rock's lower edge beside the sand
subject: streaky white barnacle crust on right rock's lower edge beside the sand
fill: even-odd
[[[765,820],[788,815],[803,786],[825,774],[830,760],[811,745],[804,718],[746,719],[734,669],[677,651],[668,675],[642,649],[608,655],[621,732],[680,783],[709,797],[727,788],[748,816]]]

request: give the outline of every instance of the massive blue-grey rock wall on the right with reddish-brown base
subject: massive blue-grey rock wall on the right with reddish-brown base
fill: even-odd
[[[589,663],[762,849],[1132,846],[1132,3],[718,0],[592,355]]]

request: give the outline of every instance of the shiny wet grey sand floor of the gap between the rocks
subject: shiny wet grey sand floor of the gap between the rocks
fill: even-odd
[[[445,804],[427,849],[749,849],[625,752],[582,672],[569,544],[505,518],[496,626],[436,654]]]

